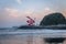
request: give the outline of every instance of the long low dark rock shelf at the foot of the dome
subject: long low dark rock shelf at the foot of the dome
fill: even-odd
[[[18,29],[22,29],[22,30],[24,30],[24,29],[26,29],[26,30],[29,30],[29,29],[33,29],[33,30],[66,30],[66,25],[47,25],[47,26],[36,26],[36,25],[32,25],[32,26],[29,26],[29,25],[21,25],[21,26],[19,26]]]

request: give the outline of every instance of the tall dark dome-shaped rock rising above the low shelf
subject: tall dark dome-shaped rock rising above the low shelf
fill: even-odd
[[[62,13],[51,13],[45,15],[41,21],[40,25],[57,25],[66,24],[66,19]]]

